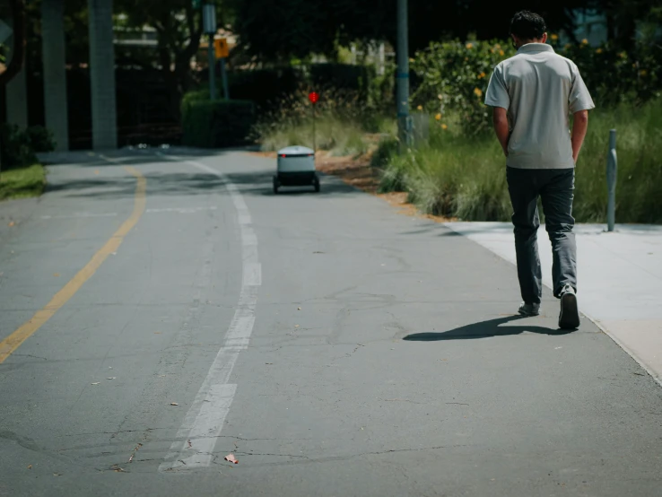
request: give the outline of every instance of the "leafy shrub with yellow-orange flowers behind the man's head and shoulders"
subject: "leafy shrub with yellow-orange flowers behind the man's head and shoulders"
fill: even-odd
[[[640,104],[662,94],[662,57],[655,43],[639,41],[630,52],[610,43],[592,48],[586,40],[561,47],[555,35],[550,43],[578,65],[598,107]],[[483,133],[491,126],[483,101],[493,68],[514,54],[510,42],[498,40],[431,43],[411,65],[414,107],[440,119],[454,114],[466,133]]]

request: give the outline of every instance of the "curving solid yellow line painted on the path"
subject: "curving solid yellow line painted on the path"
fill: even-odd
[[[83,269],[81,269],[78,274],[69,281],[69,283],[66,283],[65,286],[55,294],[51,301],[46,304],[46,307],[42,310],[38,310],[29,321],[23,323],[12,335],[7,336],[2,342],[0,342],[0,364],[19,348],[25,340],[30,338],[35,331],[42,327],[48,319],[52,318],[57,310],[65,305],[65,303],[81,289],[83,284],[89,280],[97,269],[99,269],[101,264],[103,264],[106,257],[109,257],[113,252],[117,252],[119,245],[122,243],[122,240],[124,240],[124,237],[126,237],[126,234],[131,231],[140,219],[140,216],[144,213],[147,181],[135,168],[127,166],[124,169],[133,174],[136,178],[134,212],[122,223],[118,231],[115,231],[113,236],[110,237],[110,240],[108,240],[106,244],[101,247],[94,256],[92,256],[90,262],[88,262]]]

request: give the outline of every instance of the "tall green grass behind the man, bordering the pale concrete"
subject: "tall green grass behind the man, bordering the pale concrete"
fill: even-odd
[[[574,215],[604,222],[609,130],[618,131],[618,222],[662,222],[662,99],[635,109],[595,110],[577,165]],[[466,136],[452,120],[431,126],[430,144],[393,155],[381,190],[403,190],[423,212],[467,221],[507,221],[505,159],[493,135]]]

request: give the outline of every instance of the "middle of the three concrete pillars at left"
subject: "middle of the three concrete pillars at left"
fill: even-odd
[[[65,0],[41,2],[46,127],[55,135],[58,151],[69,150],[64,11]]]

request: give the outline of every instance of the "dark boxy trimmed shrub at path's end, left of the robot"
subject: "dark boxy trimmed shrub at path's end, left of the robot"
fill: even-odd
[[[255,123],[255,106],[246,100],[198,100],[182,102],[182,144],[218,148],[246,144]]]

